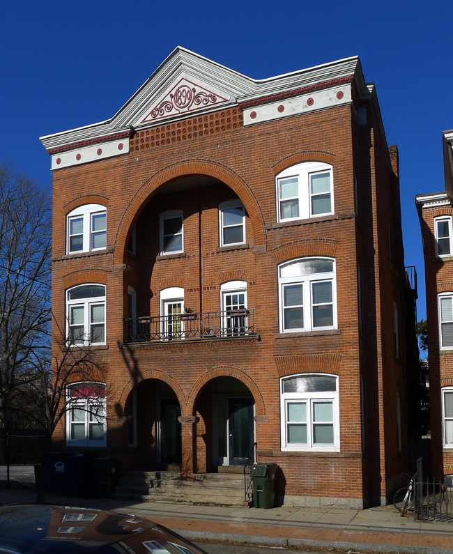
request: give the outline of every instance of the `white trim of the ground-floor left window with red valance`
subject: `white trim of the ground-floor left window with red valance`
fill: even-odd
[[[103,397],[91,397],[91,396],[82,396],[82,397],[71,397],[70,396],[70,387],[74,385],[96,385],[106,389],[105,383],[98,383],[97,381],[81,381],[78,383],[71,383],[68,385],[66,390],[66,401],[68,403],[68,408],[66,410],[66,445],[67,446],[78,446],[78,447],[105,447],[107,446],[107,394]],[[107,393],[107,389],[106,389]],[[101,406],[103,411],[102,427],[104,430],[104,436],[102,440],[90,440],[89,438],[89,429],[90,429],[90,404],[95,406]],[[83,440],[76,440],[71,438],[71,424],[72,424],[72,408],[79,406],[85,413],[85,433]],[[81,422],[78,422],[81,423]]]

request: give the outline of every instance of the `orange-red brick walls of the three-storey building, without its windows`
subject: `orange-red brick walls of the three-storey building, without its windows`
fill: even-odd
[[[235,79],[237,87],[244,88],[242,96],[236,92],[224,107],[201,106],[194,114],[164,115],[162,121],[146,124],[137,120],[140,125],[135,125],[133,97],[128,119],[122,115],[128,112],[126,105],[118,112],[121,125],[115,129],[115,121],[109,123],[110,134],[102,128],[93,138],[94,126],[86,137],[75,130],[66,137],[43,138],[54,169],[52,306],[59,327],[65,327],[69,288],[106,286],[106,344],[93,346],[109,374],[107,446],[100,452],[118,456],[125,468],[164,467],[165,446],[159,441],[168,401],[168,406],[174,403],[181,410],[183,475],[215,471],[222,465],[224,433],[231,431],[225,413],[229,399],[249,399],[258,461],[278,464],[280,501],[311,505],[314,499],[336,499],[355,507],[384,502],[407,465],[408,439],[402,433],[398,445],[396,407],[399,394],[399,426],[407,429],[406,274],[397,150],[387,148],[374,87],[364,86],[358,59],[348,59],[348,70],[343,70],[348,78],[342,77],[341,86],[348,87],[348,101],[343,89],[337,93],[339,85],[323,84],[327,79],[318,73],[324,66],[314,68],[313,76],[310,70],[301,72],[305,88],[298,86],[298,75],[279,77],[272,91],[277,88],[279,98],[289,98],[282,102],[290,102],[296,89],[308,95],[310,90],[326,89],[319,97],[325,105],[315,109],[315,102],[311,109],[310,97],[303,100],[305,111],[295,109],[286,116],[289,107],[282,104],[275,116],[263,111],[266,121],[254,124],[251,109],[259,118],[259,107],[269,110],[275,93],[270,97],[270,89],[261,91],[252,79],[245,90],[240,80],[245,77],[182,49],[176,49],[164,66],[175,59],[226,72],[230,81],[225,81],[225,94],[213,98],[233,98]],[[206,74],[192,71],[192,80],[204,77],[208,88]],[[174,69],[167,76],[168,90],[178,78]],[[153,80],[159,79],[157,72],[147,82],[151,93]],[[307,89],[307,82],[314,83],[312,89]],[[143,87],[139,94],[144,95]],[[128,152],[86,163],[68,161],[79,148],[92,148],[87,144],[100,145],[96,152],[102,156],[102,133],[106,141],[113,136],[118,140],[126,123]],[[279,222],[276,176],[303,162],[332,167],[335,213]],[[245,243],[220,247],[219,204],[231,199],[240,199],[245,207]],[[88,203],[107,209],[107,245],[67,254],[67,215]],[[178,254],[160,252],[160,214],[167,210],[183,210],[184,247]],[[131,254],[128,243],[134,226],[136,253]],[[330,330],[281,332],[278,266],[307,256],[335,259],[337,325]],[[178,287],[183,289],[184,305],[201,321],[201,314],[220,311],[222,284],[238,281],[247,284],[254,333],[128,341],[128,287],[136,291],[137,318],[159,317],[162,291]],[[397,356],[395,305],[401,345]],[[185,325],[188,329],[191,324]],[[282,450],[280,379],[318,373],[338,377],[340,447],[336,452]],[[65,437],[62,422],[54,435],[56,447],[65,447]],[[224,465],[231,463],[223,458]]]

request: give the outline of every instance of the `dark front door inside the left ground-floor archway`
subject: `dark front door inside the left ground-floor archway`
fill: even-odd
[[[177,399],[160,400],[160,461],[181,463],[181,408]]]

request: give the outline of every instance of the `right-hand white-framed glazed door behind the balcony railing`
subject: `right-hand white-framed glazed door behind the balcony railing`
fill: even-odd
[[[222,302],[222,334],[228,337],[247,334],[247,282],[228,281],[220,285]]]

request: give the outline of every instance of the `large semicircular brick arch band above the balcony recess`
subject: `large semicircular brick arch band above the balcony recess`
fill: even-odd
[[[158,171],[148,178],[148,180],[141,185],[139,190],[137,190],[129,206],[125,209],[118,228],[118,233],[116,233],[114,263],[123,263],[128,231],[135,217],[139,215],[148,199],[170,180],[188,175],[203,175],[216,178],[236,192],[241,201],[243,201],[245,209],[249,214],[254,230],[256,245],[266,245],[263,213],[261,212],[261,208],[254,193],[249,185],[245,183],[245,180],[235,171],[218,162],[212,162],[210,160],[187,160],[171,164]]]

